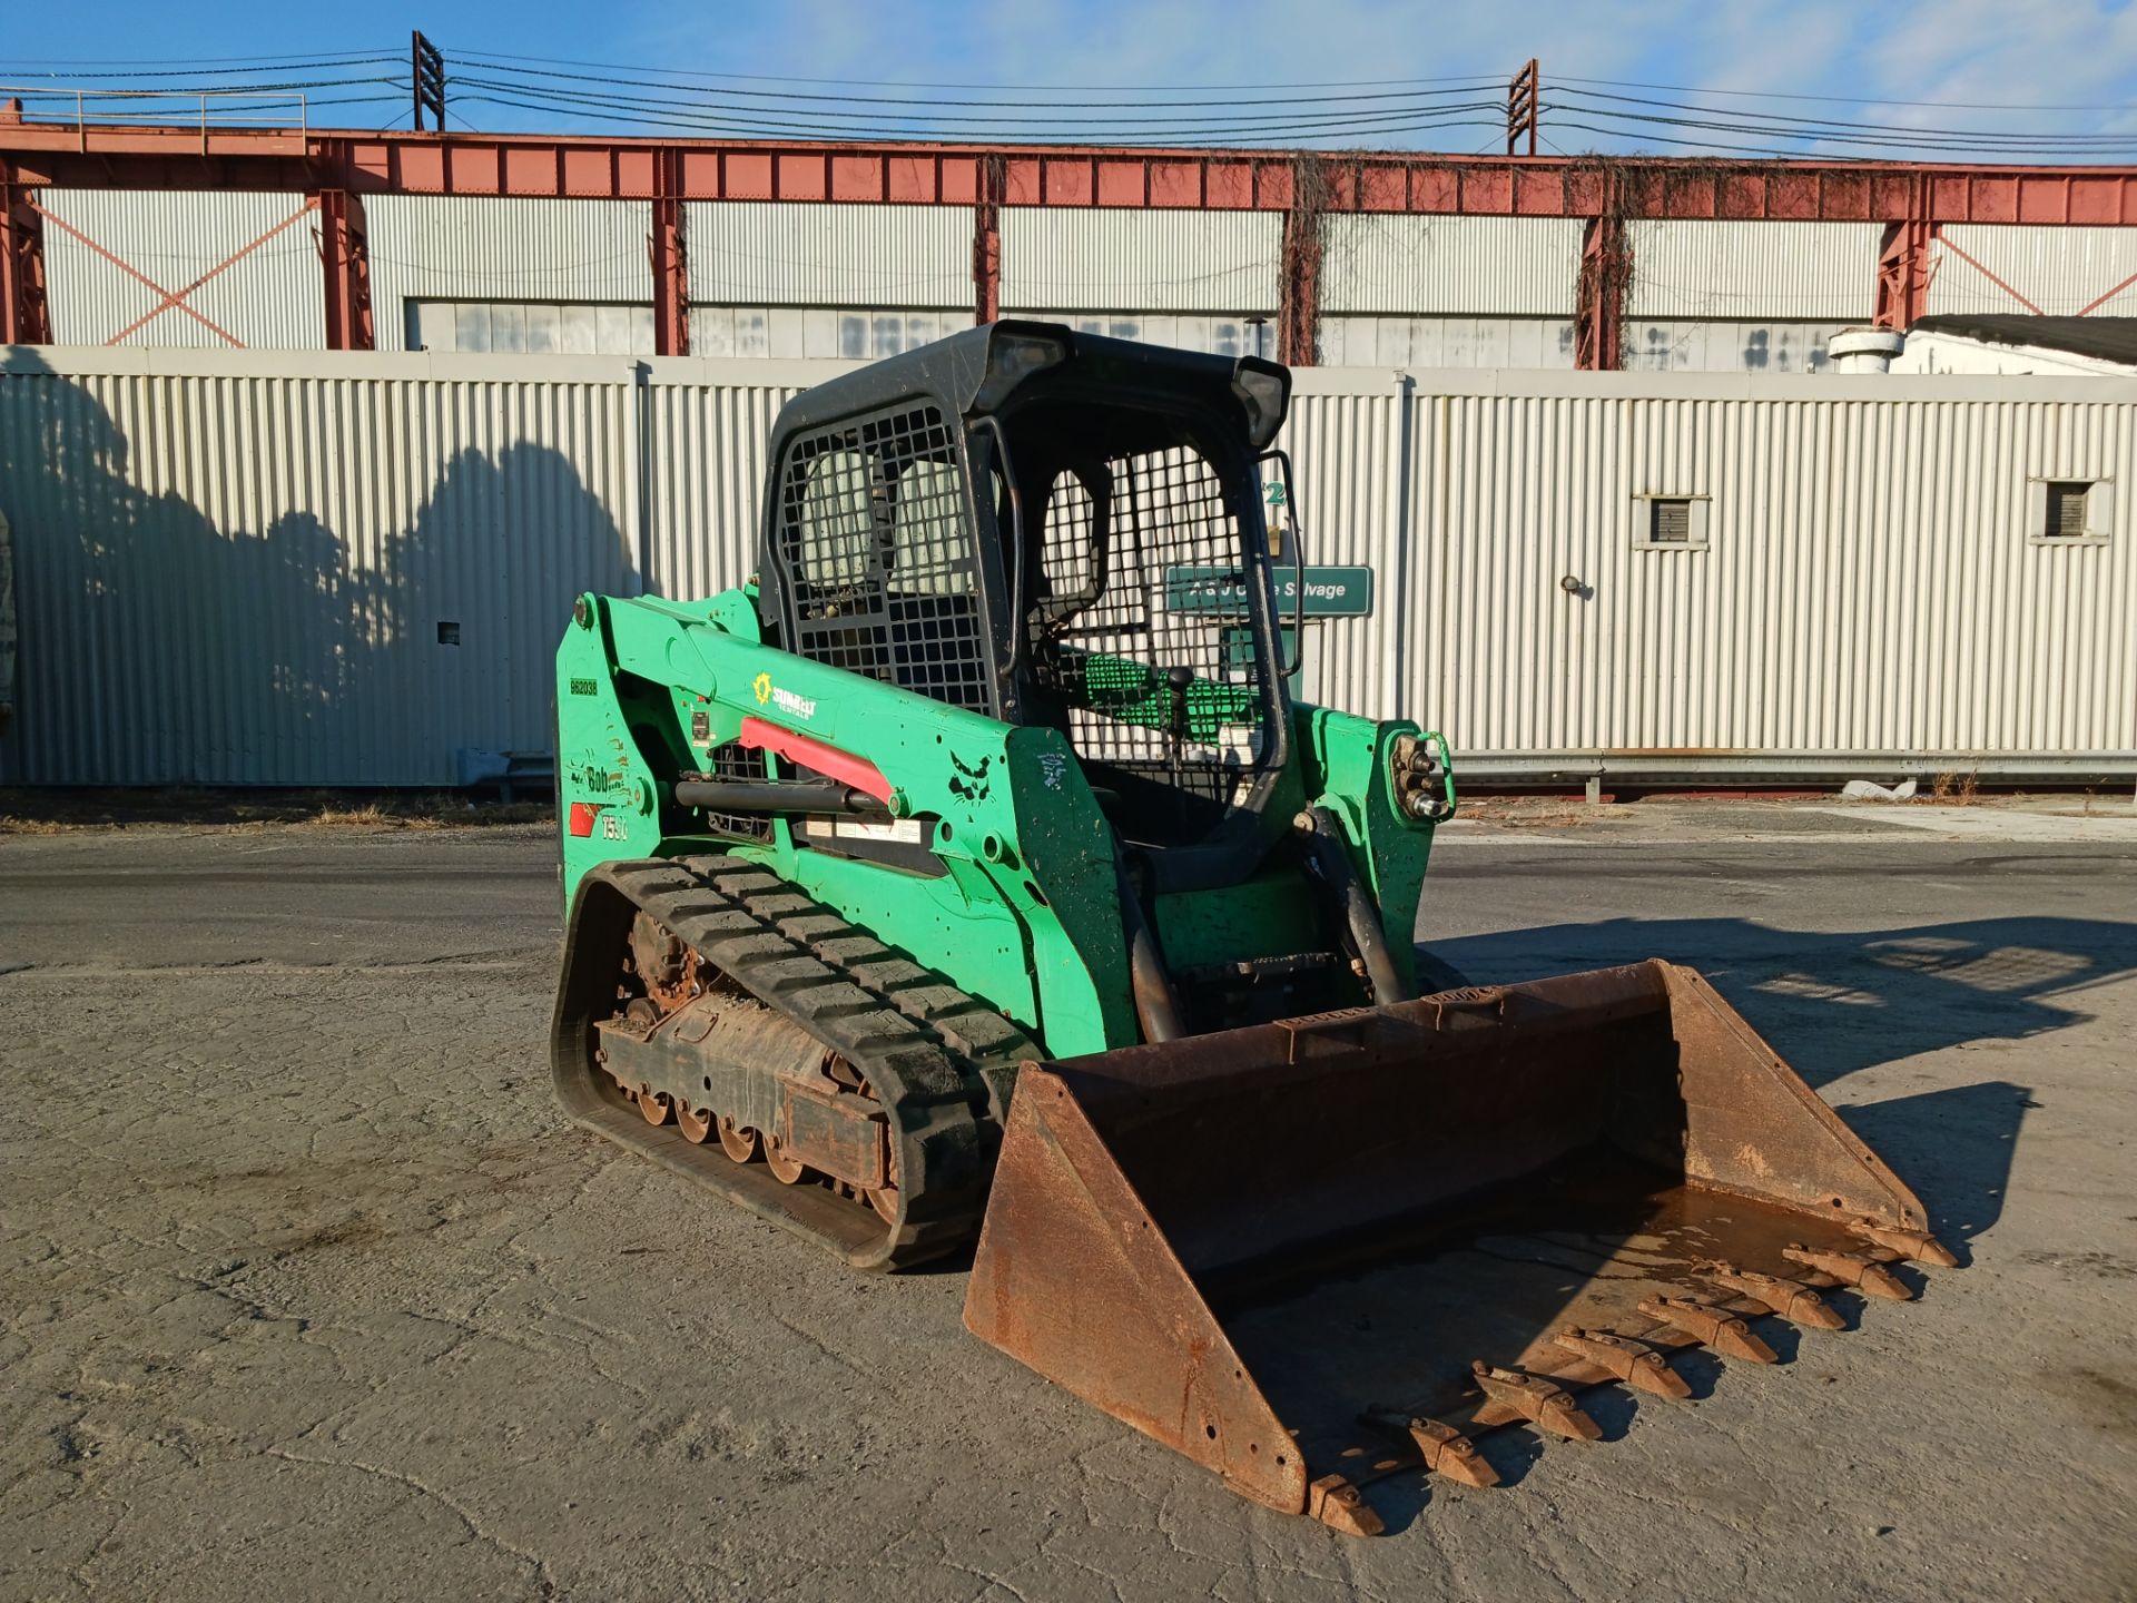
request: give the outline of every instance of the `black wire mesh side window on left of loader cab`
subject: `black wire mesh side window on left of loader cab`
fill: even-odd
[[[780,479],[795,652],[996,714],[964,457],[936,406],[799,436]]]

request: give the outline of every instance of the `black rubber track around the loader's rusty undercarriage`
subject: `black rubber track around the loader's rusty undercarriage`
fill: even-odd
[[[596,885],[650,913],[705,962],[868,1077],[891,1116],[900,1216],[887,1231],[878,1229],[872,1244],[840,1240],[814,1227],[808,1210],[791,1205],[804,1201],[791,1193],[808,1186],[784,1188],[789,1205],[759,1205],[737,1188],[735,1182],[744,1176],[716,1167],[727,1165],[718,1146],[688,1148],[673,1133],[654,1131],[643,1120],[639,1131],[620,1120],[596,1122],[581,1116],[581,1122],[662,1158],[667,1167],[680,1165],[673,1154],[654,1150],[652,1141],[675,1143],[692,1154],[709,1152],[707,1171],[695,1178],[776,1223],[818,1238],[857,1267],[906,1267],[977,1238],[1009,1086],[1021,1060],[1041,1056],[1021,1028],[778,874],[727,855],[613,861],[588,872],[566,936],[571,960],[603,962],[598,943],[588,949],[577,940],[581,911]],[[611,949],[620,951],[620,945]],[[575,1058],[583,1075],[600,1073],[583,1058],[588,1037],[579,1037],[575,1047],[566,1043],[571,994],[566,977],[558,1002],[560,1092],[562,1077],[573,1069],[566,1058]],[[613,979],[603,994],[613,996]],[[568,1096],[566,1107],[581,1111]],[[857,1220],[874,1223],[865,1208],[823,1195]]]

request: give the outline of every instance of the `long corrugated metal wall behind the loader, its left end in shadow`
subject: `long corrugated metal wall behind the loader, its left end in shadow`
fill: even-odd
[[[844,363],[9,351],[0,782],[447,784],[547,746],[581,588],[746,575],[771,417]],[[1460,750],[2137,763],[2137,383],[1297,374],[1308,690]],[[1710,498],[1641,549],[1637,496]],[[1579,581],[1569,594],[1560,579]],[[457,637],[457,645],[444,643]]]

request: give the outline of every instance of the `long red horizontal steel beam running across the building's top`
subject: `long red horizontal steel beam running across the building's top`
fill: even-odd
[[[1002,205],[1291,207],[1293,152],[1094,145],[838,145],[479,133],[297,133],[0,124],[21,184],[81,188],[344,188],[357,194],[974,205],[1002,162]],[[2137,224],[2137,167],[1729,162],[1598,156],[1327,156],[1329,212],[1791,222]],[[1605,180],[1605,175],[1609,175]]]

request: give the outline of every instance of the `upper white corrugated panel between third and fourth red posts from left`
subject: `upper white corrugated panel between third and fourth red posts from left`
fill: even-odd
[[[690,299],[718,306],[972,308],[960,205],[690,201]]]

